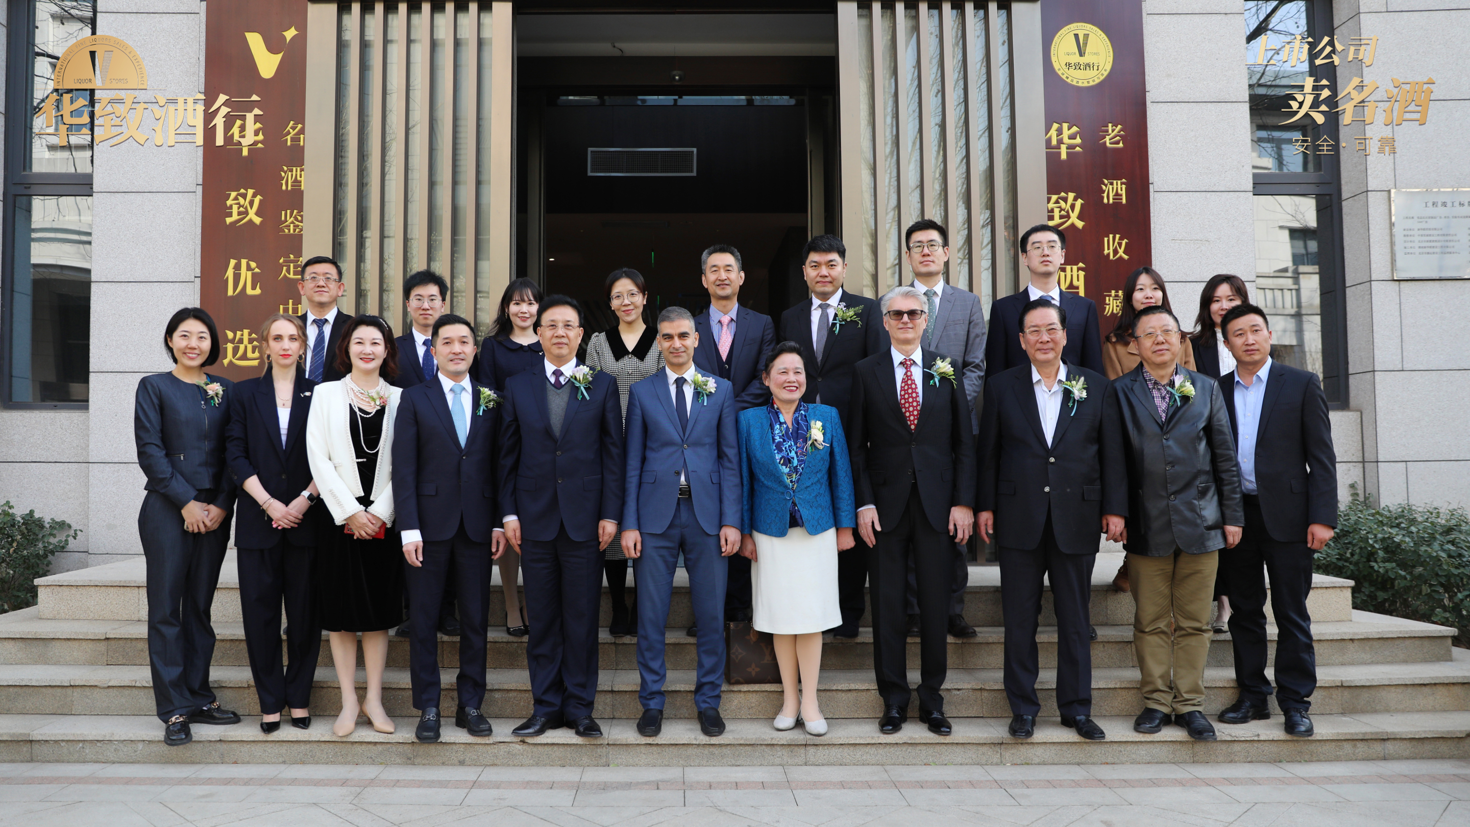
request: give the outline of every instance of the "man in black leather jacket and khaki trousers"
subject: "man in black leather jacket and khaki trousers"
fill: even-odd
[[[1157,733],[1172,720],[1214,740],[1202,711],[1210,602],[1217,552],[1241,542],[1245,508],[1225,394],[1179,366],[1180,335],[1179,319],[1157,304],[1133,319],[1142,361],[1107,395],[1102,439],[1127,469],[1123,548],[1144,693],[1133,730]]]

